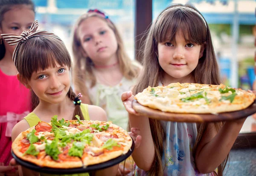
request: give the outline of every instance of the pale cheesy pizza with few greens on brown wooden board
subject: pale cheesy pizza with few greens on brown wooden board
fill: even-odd
[[[223,84],[172,83],[144,89],[135,99],[140,105],[163,112],[217,114],[239,111],[250,106],[255,95]]]

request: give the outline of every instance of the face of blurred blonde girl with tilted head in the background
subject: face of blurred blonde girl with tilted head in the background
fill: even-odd
[[[85,54],[96,65],[114,62],[111,59],[116,59],[117,40],[105,20],[99,17],[87,18],[79,25],[78,35]]]

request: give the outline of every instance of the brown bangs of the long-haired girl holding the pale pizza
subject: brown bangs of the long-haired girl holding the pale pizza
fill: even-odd
[[[181,31],[186,42],[203,44],[207,40],[206,26],[195,12],[185,9],[164,11],[155,23],[154,39],[157,43],[175,42],[175,35]]]

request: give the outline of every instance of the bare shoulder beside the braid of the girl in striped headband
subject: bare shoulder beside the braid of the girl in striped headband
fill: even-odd
[[[106,112],[99,106],[88,105],[90,120],[107,121]]]

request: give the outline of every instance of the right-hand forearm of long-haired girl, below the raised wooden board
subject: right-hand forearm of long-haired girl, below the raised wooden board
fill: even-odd
[[[218,133],[214,124],[209,123],[195,153],[195,164],[200,173],[210,173],[224,161],[245,119],[225,122]]]

